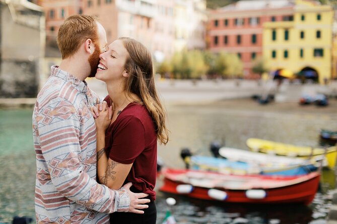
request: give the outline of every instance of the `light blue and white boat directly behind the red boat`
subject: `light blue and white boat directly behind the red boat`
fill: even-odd
[[[264,162],[264,164],[262,164],[253,161],[232,161],[225,158],[215,158],[209,156],[191,156],[188,160],[188,167],[192,170],[205,170],[235,175],[302,175],[317,170],[317,167],[310,161],[302,159],[298,160],[300,161],[297,162],[297,160],[294,159],[297,163],[268,164],[267,162]]]

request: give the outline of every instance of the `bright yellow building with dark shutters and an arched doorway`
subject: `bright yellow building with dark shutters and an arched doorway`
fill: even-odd
[[[263,25],[263,57],[272,71],[287,69],[301,78],[331,79],[333,10],[296,0],[292,16]]]

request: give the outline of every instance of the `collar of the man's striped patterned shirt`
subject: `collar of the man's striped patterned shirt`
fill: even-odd
[[[56,76],[66,82],[70,82],[81,93],[86,93],[88,91],[86,81],[82,81],[69,72],[59,69],[57,65],[51,66],[51,76]]]

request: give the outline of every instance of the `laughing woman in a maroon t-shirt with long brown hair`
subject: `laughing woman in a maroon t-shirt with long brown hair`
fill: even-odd
[[[151,53],[136,40],[119,38],[100,55],[96,78],[109,94],[95,119],[98,179],[112,189],[132,182],[132,191],[151,200],[144,214],[115,212],[110,222],[156,223],[157,140],[166,144],[168,131]]]

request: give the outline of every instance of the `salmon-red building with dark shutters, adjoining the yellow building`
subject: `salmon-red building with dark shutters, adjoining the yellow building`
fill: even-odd
[[[244,77],[257,77],[252,66],[262,56],[263,23],[293,20],[293,7],[288,0],[254,0],[209,11],[208,48],[215,53],[237,53],[243,62]]]

